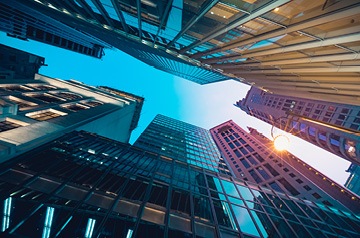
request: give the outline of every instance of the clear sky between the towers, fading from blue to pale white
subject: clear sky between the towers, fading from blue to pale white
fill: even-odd
[[[22,41],[0,32],[0,43],[45,57],[40,73],[75,79],[93,86],[109,86],[145,98],[139,126],[131,143],[157,114],[210,129],[232,119],[242,128],[256,128],[270,138],[271,126],[248,116],[233,104],[245,97],[249,86],[236,81],[198,85],[157,70],[118,50],[106,50],[99,60],[35,41]],[[289,151],[343,185],[350,162],[302,139],[290,136]]]

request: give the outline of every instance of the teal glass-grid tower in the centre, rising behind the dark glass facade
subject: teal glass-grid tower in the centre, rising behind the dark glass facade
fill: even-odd
[[[157,115],[134,146],[214,172],[232,175],[209,130],[170,117]]]

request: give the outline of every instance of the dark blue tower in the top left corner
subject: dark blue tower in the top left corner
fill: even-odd
[[[64,13],[68,14],[66,11]],[[0,1],[0,22],[0,31],[6,32],[8,36],[36,40],[95,58],[101,58],[104,48],[111,47],[94,36],[16,1]]]

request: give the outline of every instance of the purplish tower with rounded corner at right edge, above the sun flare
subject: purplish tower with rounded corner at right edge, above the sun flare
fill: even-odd
[[[252,87],[241,110],[360,164],[360,106],[282,96]]]

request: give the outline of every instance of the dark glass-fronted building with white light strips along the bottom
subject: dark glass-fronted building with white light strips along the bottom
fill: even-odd
[[[0,181],[1,231],[10,237],[317,238],[360,230],[348,212],[86,132],[1,164]]]

